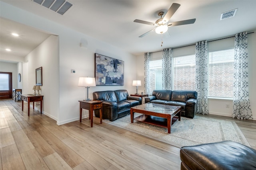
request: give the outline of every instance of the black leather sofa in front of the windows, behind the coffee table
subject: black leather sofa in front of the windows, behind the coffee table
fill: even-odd
[[[185,90],[154,90],[145,103],[181,106],[181,116],[194,118],[197,111],[197,92]]]

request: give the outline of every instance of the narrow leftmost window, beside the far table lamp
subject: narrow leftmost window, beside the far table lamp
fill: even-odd
[[[162,90],[162,60],[149,62],[150,94],[153,90]]]

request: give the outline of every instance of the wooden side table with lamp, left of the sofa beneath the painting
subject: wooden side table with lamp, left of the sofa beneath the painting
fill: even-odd
[[[100,124],[102,124],[102,101],[100,100],[79,100],[80,103],[80,122],[82,122],[82,109],[89,110],[91,127],[93,124],[93,111],[100,109]]]

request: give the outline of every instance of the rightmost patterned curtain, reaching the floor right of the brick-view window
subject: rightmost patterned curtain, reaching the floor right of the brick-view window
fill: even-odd
[[[233,118],[252,119],[248,92],[247,32],[235,36]]]

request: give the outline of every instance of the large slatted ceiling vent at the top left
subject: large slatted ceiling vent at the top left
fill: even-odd
[[[72,6],[66,0],[32,0],[50,10],[57,12],[58,14],[63,15],[67,10]]]

